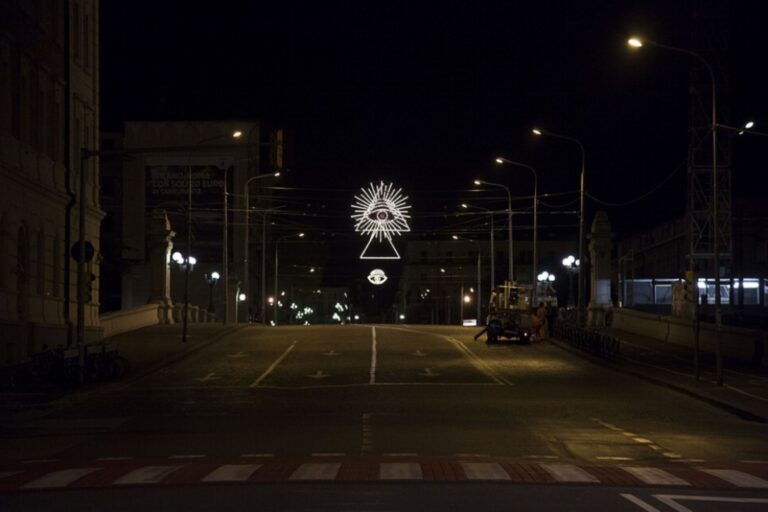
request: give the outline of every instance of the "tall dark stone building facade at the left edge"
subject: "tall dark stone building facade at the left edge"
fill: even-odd
[[[98,0],[0,2],[0,365],[72,342],[81,169],[99,336],[99,164],[80,153],[98,149],[98,20]]]

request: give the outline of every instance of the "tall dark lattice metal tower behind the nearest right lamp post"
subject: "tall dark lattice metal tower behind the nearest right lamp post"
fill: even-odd
[[[718,124],[728,125],[728,75],[725,69],[728,51],[729,2],[694,0],[691,50],[712,67],[717,92]],[[712,181],[712,80],[701,63],[693,62],[690,78],[688,202],[691,267],[714,277],[715,251],[719,251],[721,269],[730,267],[733,249],[731,237],[731,133],[720,130],[717,136],[717,198]],[[717,219],[713,218],[717,201]],[[714,230],[718,230],[715,247]],[[728,275],[726,270],[725,275]],[[723,274],[721,273],[721,276]]]

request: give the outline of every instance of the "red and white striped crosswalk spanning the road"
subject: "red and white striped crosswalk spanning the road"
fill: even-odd
[[[0,491],[221,482],[477,481],[682,488],[768,489],[768,464],[750,467],[595,466],[461,457],[280,457],[208,461],[201,458],[96,459],[67,465],[0,466]]]

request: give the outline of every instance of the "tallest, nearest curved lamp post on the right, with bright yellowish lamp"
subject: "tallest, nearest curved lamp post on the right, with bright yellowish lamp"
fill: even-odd
[[[712,66],[709,62],[696,52],[686,50],[684,48],[678,48],[675,46],[669,46],[666,44],[657,43],[649,39],[639,39],[632,37],[627,41],[627,44],[631,48],[642,48],[643,45],[655,46],[657,48],[663,48],[677,53],[685,54],[689,57],[693,57],[704,65],[709,73],[709,79],[712,82],[712,246],[714,250],[714,267],[715,267],[715,338],[717,339],[717,384],[723,385],[723,350],[720,333],[722,331],[722,311],[721,311],[721,296],[720,296],[720,216],[718,213],[718,192],[717,192],[717,94],[715,88],[715,72],[712,70]],[[746,126],[745,126],[746,127]],[[750,126],[751,128],[751,126]],[[693,269],[693,254],[690,259],[691,269]]]

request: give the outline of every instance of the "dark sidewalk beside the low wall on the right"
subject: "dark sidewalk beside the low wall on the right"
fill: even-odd
[[[724,360],[723,385],[718,386],[714,354],[701,353],[701,374],[697,381],[693,348],[613,328],[601,332],[621,340],[621,356],[618,361],[595,358],[596,361],[685,393],[744,419],[768,423],[768,368]],[[565,342],[557,343],[576,350]]]

